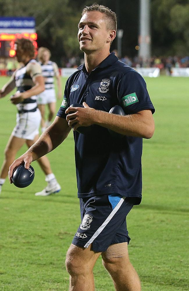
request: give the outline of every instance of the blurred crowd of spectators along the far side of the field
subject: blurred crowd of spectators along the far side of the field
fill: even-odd
[[[113,51],[117,54],[117,51]],[[162,73],[166,73],[167,75],[171,75],[172,68],[189,68],[189,56],[169,56],[169,57],[156,57],[152,56],[147,60],[143,60],[142,58],[135,56],[131,58],[129,56],[124,56],[120,58],[120,61],[126,63],[132,68],[159,68]],[[62,59],[62,68],[77,68],[79,65],[84,63],[84,59],[79,56],[72,56],[71,58],[63,58]],[[0,59],[0,75],[11,75],[18,66],[18,63],[14,58]]]

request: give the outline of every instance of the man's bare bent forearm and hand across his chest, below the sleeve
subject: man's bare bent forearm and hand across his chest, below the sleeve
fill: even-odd
[[[137,136],[145,139],[150,139],[154,134],[155,127],[151,110],[142,110],[135,114],[120,116],[95,110],[88,107],[85,102],[83,102],[83,106],[85,108],[69,107],[66,110],[66,113],[75,111],[75,113],[67,115],[70,127],[76,123],[73,130],[76,130],[79,126],[96,124],[123,135]],[[72,120],[72,118],[74,119]]]

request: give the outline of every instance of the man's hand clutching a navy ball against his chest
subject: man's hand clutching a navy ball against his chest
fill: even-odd
[[[68,113],[66,120],[68,122],[69,127],[72,127],[74,123],[76,123],[73,127],[73,131],[80,126],[90,126],[94,123],[95,109],[90,108],[85,102],[83,102],[82,107],[69,107],[66,109],[65,113]],[[74,113],[69,114],[70,111],[74,111]]]

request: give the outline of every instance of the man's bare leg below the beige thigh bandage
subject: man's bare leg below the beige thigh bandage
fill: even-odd
[[[141,291],[138,274],[129,260],[128,253],[118,258],[103,257],[102,263],[110,273],[116,291]]]

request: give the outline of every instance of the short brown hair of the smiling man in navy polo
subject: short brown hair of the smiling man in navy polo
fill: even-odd
[[[106,19],[106,29],[109,30],[115,30],[117,31],[117,17],[115,12],[110,10],[110,8],[99,5],[97,3],[93,3],[91,6],[85,6],[85,8],[82,11],[82,16],[87,13],[88,11],[99,11],[104,14]]]

